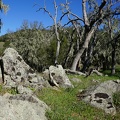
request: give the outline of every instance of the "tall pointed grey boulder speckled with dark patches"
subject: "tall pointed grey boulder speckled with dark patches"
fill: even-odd
[[[38,76],[13,48],[7,48],[2,59],[6,86],[14,87],[16,84],[23,83],[26,86],[36,87],[44,84],[43,78]]]

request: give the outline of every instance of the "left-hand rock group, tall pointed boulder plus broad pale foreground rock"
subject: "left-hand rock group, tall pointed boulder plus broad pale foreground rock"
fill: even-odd
[[[2,60],[4,87],[15,88],[18,94],[0,96],[0,120],[47,120],[45,112],[48,106],[30,90],[30,87],[39,90],[47,82],[13,48],[4,51]]]

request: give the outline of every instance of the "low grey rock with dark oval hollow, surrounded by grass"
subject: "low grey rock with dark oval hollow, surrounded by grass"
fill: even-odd
[[[120,80],[110,80],[92,86],[79,94],[83,101],[103,109],[106,113],[115,115],[116,108],[113,104],[113,93],[120,92]]]

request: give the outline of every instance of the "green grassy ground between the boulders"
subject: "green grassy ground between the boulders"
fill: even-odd
[[[68,76],[70,79],[80,79],[79,83],[73,82],[75,86],[74,89],[55,90],[45,88],[38,93],[38,97],[45,101],[51,108],[51,111],[47,112],[47,117],[49,120],[120,120],[119,113],[115,116],[107,115],[104,111],[91,107],[77,98],[79,90],[96,84],[94,80],[103,82],[107,80],[119,79],[119,76],[115,75],[101,77],[91,75],[88,78],[78,75]]]

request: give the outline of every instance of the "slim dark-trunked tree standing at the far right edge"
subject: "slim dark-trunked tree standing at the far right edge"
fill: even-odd
[[[106,31],[109,34],[109,43],[111,45],[111,74],[115,74],[116,65],[116,52],[120,39],[120,21],[119,18],[113,18],[113,16],[107,19]]]

